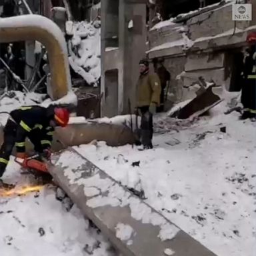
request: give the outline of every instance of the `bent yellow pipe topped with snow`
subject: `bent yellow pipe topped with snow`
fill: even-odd
[[[33,40],[47,49],[53,99],[60,99],[71,89],[67,45],[61,29],[41,15],[0,18],[0,43]]]

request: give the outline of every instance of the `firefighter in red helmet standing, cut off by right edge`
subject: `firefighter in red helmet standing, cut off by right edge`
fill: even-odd
[[[249,48],[245,56],[241,103],[243,114],[240,119],[256,117],[256,32],[247,35]]]

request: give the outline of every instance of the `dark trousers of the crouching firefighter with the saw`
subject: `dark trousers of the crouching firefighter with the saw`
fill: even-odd
[[[27,137],[31,143],[33,143],[35,151],[42,153],[41,140],[38,137],[37,132],[37,129],[32,130]],[[5,128],[3,129],[3,133],[3,144],[1,145],[0,149],[0,177],[2,177],[3,173],[5,172],[16,142],[17,124],[11,120],[8,120]],[[25,151],[25,147],[22,151]]]

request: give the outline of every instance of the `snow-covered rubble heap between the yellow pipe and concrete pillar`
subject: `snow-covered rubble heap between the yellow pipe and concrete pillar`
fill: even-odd
[[[100,22],[95,21],[93,25],[86,21],[73,23],[70,30],[73,31],[73,38],[69,63],[89,85],[96,85],[101,77]]]

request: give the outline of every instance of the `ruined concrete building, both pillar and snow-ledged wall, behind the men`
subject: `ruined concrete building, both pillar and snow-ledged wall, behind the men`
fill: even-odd
[[[151,60],[164,60],[165,68],[171,73],[171,103],[193,98],[195,91],[191,85],[195,85],[199,77],[228,91],[241,89],[237,76],[243,65],[247,34],[256,29],[255,12],[251,21],[233,21],[234,1],[197,2],[199,6],[191,4],[191,1],[171,1],[168,8],[176,10],[170,11],[171,19],[153,24],[151,28],[142,26],[141,29],[136,27],[138,15],[140,22],[152,21],[152,12],[149,11],[149,15],[146,12],[147,1],[120,0],[119,9],[116,7],[115,11],[110,7],[113,7],[111,1],[101,3],[101,19],[105,24],[101,33],[101,91],[107,91],[102,108],[106,115],[129,113],[126,102],[128,97],[135,98],[138,62],[145,56]],[[254,10],[256,1],[250,3]],[[136,11],[133,13],[126,9],[120,13],[123,10],[120,6],[125,4]],[[191,9],[185,9],[189,13],[180,14],[184,6]],[[137,13],[138,10],[141,12]],[[165,13],[167,16],[168,13]],[[123,23],[120,22],[122,19]],[[129,26],[131,21],[133,26]],[[113,40],[117,39],[117,34],[118,43]],[[114,98],[118,99],[118,103],[114,103]]]

